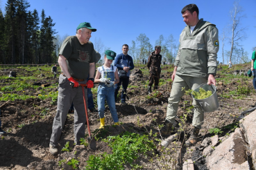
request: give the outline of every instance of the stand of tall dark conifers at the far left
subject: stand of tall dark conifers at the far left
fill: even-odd
[[[46,64],[57,60],[53,41],[56,30],[44,10],[30,11],[26,0],[8,0],[0,9],[0,64]]]

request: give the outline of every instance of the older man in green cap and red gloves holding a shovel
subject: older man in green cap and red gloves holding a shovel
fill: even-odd
[[[67,37],[60,48],[58,63],[62,73],[59,77],[57,113],[53,120],[49,144],[50,153],[53,155],[58,153],[58,141],[72,102],[75,106],[74,135],[76,144],[80,144],[80,138],[85,137],[85,106],[83,89],[79,84],[87,84],[87,88],[94,86],[96,53],[94,53],[94,45],[89,39],[92,37],[92,32],[95,31],[96,29],[92,28],[90,23],[80,23],[76,28],[76,35]],[[85,96],[87,96],[86,89]]]

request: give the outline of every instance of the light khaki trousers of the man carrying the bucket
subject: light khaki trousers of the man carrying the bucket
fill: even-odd
[[[175,118],[178,112],[178,103],[180,102],[181,97],[185,94],[185,91],[182,91],[182,88],[185,87],[185,90],[196,89],[200,84],[207,83],[206,78],[200,77],[191,77],[185,75],[175,75],[173,85],[171,88],[171,94],[168,99],[167,106],[167,118],[172,124],[176,124]],[[201,125],[204,120],[204,112],[202,108],[197,104],[196,100],[193,100],[194,106],[194,117],[192,125],[198,129],[201,129]]]

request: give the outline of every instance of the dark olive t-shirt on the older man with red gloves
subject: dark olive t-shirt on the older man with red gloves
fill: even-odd
[[[67,60],[67,68],[72,77],[76,79],[87,79],[89,74],[89,63],[95,62],[94,45],[91,41],[81,45],[76,36],[67,37],[60,48],[59,55]]]

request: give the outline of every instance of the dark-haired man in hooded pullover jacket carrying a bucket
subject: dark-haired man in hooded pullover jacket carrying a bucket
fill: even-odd
[[[196,4],[185,6],[182,11],[183,21],[187,26],[180,34],[180,46],[174,64],[173,85],[171,95],[168,99],[167,117],[164,126],[160,129],[161,135],[170,135],[175,127],[178,103],[185,90],[194,90],[200,84],[214,84],[214,78],[217,68],[217,53],[219,50],[218,29],[210,22],[198,19],[199,10]],[[194,117],[189,140],[186,141],[188,146],[196,144],[199,129],[204,120],[202,108],[193,101]]]

